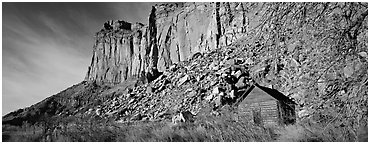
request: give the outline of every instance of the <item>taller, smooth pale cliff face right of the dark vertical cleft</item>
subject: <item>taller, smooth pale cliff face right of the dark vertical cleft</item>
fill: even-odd
[[[248,10],[257,3],[176,3],[153,7],[157,68],[161,71],[197,52],[231,44],[250,28]],[[155,13],[155,14],[153,14]]]

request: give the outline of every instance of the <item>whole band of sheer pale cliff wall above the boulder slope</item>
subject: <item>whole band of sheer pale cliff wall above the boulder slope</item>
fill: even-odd
[[[258,3],[171,3],[152,7],[149,24],[108,21],[96,33],[85,80],[117,84],[163,71],[193,54],[226,46],[254,25]]]

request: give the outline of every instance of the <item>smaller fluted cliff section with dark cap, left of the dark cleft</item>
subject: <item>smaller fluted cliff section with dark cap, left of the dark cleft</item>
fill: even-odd
[[[95,35],[93,57],[85,80],[117,84],[138,77],[146,67],[147,27],[108,21]]]

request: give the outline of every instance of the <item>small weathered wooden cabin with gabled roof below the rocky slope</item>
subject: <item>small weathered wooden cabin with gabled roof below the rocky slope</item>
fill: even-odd
[[[238,100],[238,119],[263,125],[295,123],[296,104],[279,91],[254,84],[244,93]]]

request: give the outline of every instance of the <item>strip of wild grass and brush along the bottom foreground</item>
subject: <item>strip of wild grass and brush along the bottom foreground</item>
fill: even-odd
[[[21,127],[3,125],[2,141],[92,142],[239,142],[239,141],[367,141],[367,123],[356,132],[309,121],[288,126],[258,126],[228,117],[202,116],[194,123],[170,121],[116,123],[100,118],[50,120]]]

